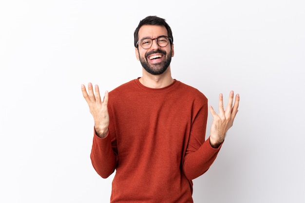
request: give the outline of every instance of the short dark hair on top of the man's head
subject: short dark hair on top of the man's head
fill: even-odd
[[[172,42],[173,42],[172,29],[169,26],[169,24],[167,24],[165,19],[159,18],[159,17],[156,17],[156,16],[148,16],[148,17],[140,20],[138,27],[134,31],[134,34],[133,34],[133,37],[134,37],[134,47],[136,47],[136,42],[139,40],[138,33],[139,33],[140,28],[143,25],[162,25],[162,26],[164,26],[167,29],[167,32],[168,32],[168,35],[169,35],[168,37],[171,37],[171,39],[172,39],[172,40],[170,40],[170,43],[172,45]]]

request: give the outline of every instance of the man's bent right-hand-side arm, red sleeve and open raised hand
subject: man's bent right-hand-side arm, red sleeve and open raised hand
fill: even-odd
[[[225,139],[226,132],[233,125],[239,104],[239,95],[236,95],[234,107],[233,91],[230,92],[226,111],[223,109],[222,94],[219,96],[220,113],[217,115],[210,107],[213,115],[210,137],[205,141],[207,124],[207,105],[198,112],[191,128],[190,141],[185,155],[183,170],[189,180],[204,174],[212,165]],[[203,125],[204,124],[204,125]]]

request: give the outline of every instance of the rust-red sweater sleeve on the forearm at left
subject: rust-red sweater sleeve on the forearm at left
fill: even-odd
[[[111,139],[109,131],[105,138],[100,138],[94,130],[90,158],[95,171],[102,178],[107,178],[114,172],[118,160],[112,143],[115,143],[115,140]]]

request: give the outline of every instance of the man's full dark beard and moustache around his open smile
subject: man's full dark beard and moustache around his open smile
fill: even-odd
[[[165,61],[160,62],[160,63],[155,63],[152,66],[148,63],[147,57],[148,55],[152,54],[163,54],[165,55]],[[167,55],[166,51],[163,50],[156,50],[156,51],[151,51],[145,54],[145,57],[140,57],[140,62],[142,67],[150,74],[158,75],[158,74],[163,74],[167,68],[170,66],[171,61],[172,61],[172,55],[169,54]]]

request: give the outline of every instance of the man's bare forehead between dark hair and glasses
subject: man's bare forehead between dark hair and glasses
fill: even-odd
[[[138,38],[143,37],[156,38],[159,36],[168,36],[167,29],[162,25],[143,25],[139,29]]]

